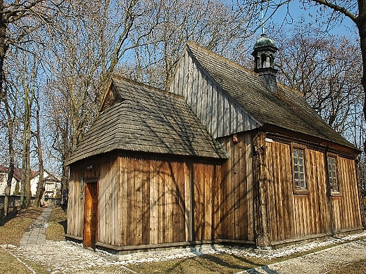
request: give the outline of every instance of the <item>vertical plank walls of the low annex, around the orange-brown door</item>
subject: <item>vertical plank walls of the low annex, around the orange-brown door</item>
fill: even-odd
[[[220,165],[113,157],[72,165],[68,234],[83,236],[80,180],[97,176],[99,242],[138,246],[221,236]]]

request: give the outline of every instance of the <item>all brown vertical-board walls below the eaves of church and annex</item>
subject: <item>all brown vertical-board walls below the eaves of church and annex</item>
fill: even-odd
[[[220,141],[231,155],[222,165],[164,159],[100,157],[70,169],[68,234],[83,236],[81,179],[98,180],[98,240],[139,246],[192,240],[255,240],[251,133]],[[330,195],[324,152],[306,149],[308,193],[294,194],[289,143],[265,143],[271,242],[360,228],[352,159],[337,157],[340,194]],[[89,162],[88,162],[89,164]],[[85,183],[84,183],[85,185]]]

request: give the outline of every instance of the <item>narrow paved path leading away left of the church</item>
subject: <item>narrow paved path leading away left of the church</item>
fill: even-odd
[[[49,222],[51,211],[52,207],[46,207],[43,209],[36,221],[30,225],[30,230],[24,233],[23,238],[20,240],[20,247],[44,244],[46,242],[46,235],[44,233]]]

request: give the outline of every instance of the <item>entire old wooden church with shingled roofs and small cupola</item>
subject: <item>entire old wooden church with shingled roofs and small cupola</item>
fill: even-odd
[[[193,43],[168,91],[115,77],[68,159],[67,239],[124,254],[280,244],[362,230],[360,150],[278,84]]]

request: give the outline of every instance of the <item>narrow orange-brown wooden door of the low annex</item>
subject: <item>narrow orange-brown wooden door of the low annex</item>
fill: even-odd
[[[98,184],[96,182],[85,185],[85,211],[84,211],[84,247],[95,249],[97,211],[98,211]]]

